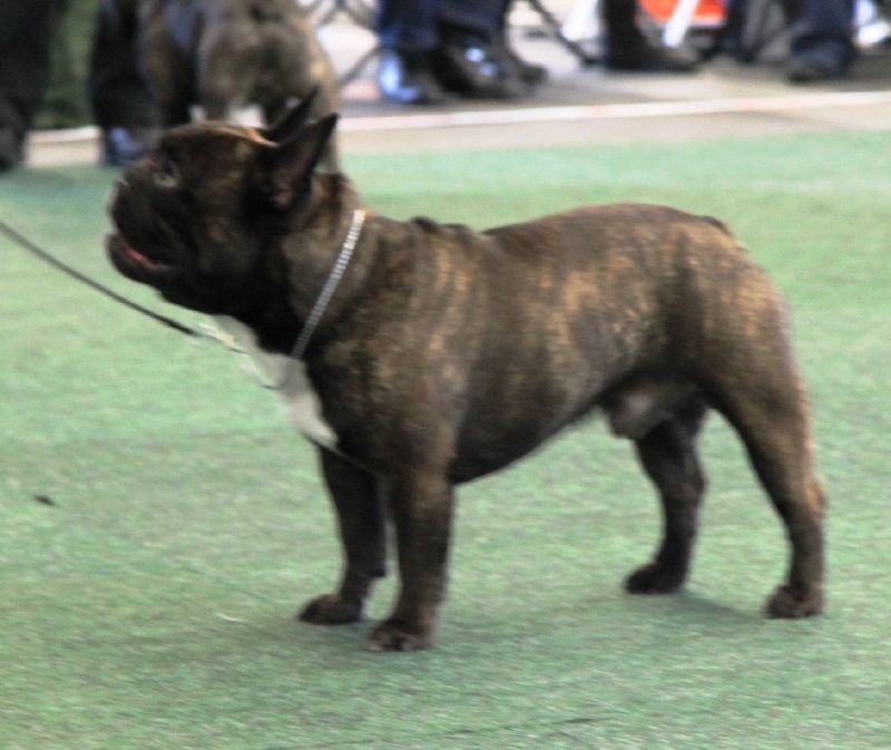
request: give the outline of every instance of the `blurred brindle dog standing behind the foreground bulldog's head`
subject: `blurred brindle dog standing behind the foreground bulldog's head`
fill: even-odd
[[[188,123],[196,104],[226,121],[256,104],[274,123],[316,88],[313,117],[340,110],[334,66],[295,0],[110,2],[121,18],[138,13],[139,62],[164,127]],[[333,139],[324,166],[339,168]]]

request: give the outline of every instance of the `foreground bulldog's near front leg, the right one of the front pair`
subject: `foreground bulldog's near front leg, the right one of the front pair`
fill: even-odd
[[[401,590],[392,614],[371,634],[371,651],[417,651],[433,641],[446,593],[452,487],[442,474],[407,467],[389,499],[396,533]]]

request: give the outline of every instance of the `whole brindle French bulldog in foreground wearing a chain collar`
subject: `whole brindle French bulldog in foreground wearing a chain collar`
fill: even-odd
[[[273,372],[294,411],[316,410],[304,429],[345,568],[302,620],[362,617],[384,575],[389,518],[401,590],[369,647],[429,646],[454,486],[595,408],[634,440],[662,499],[664,539],[628,591],[673,592],[687,576],[705,488],[696,438],[715,409],[791,542],[766,614],[820,612],[824,494],[785,305],[721,222],[616,204],[481,233],[371,212],[362,224],[352,183],[313,174],[336,117],[307,124],[307,109],[270,129],[168,132],[117,185],[107,240],[124,275],[239,330],[267,363],[285,363]]]

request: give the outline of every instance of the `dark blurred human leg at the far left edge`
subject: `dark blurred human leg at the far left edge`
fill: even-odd
[[[20,164],[49,84],[56,0],[0,0],[0,172]]]

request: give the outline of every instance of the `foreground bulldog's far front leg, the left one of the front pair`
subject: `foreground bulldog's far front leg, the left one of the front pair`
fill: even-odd
[[[317,625],[339,625],[362,618],[374,579],[386,574],[386,510],[373,474],[324,448],[320,458],[337,513],[345,565],[337,591],[312,600],[298,616]]]

